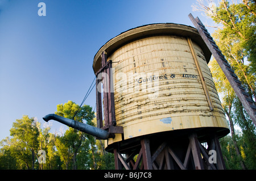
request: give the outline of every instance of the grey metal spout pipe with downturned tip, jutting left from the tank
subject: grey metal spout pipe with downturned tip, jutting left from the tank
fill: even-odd
[[[96,127],[90,126],[88,124],[81,123],[79,121],[68,119],[66,117],[61,117],[54,113],[44,116],[43,120],[46,122],[48,122],[49,120],[58,121],[62,124],[65,124],[65,125],[71,127],[71,128],[75,128],[81,132],[91,134],[92,136],[96,136],[97,138],[99,138],[101,140],[106,140],[109,137],[109,132],[107,132],[103,129],[96,128]]]

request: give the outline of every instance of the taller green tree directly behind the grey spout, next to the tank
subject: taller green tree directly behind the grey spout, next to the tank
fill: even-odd
[[[96,126],[92,107],[87,105],[79,109],[79,105],[69,100],[57,105],[55,113]],[[105,151],[104,141],[96,140],[90,134],[69,128],[63,136],[55,136],[55,145],[63,162],[63,169],[114,169],[114,155]]]

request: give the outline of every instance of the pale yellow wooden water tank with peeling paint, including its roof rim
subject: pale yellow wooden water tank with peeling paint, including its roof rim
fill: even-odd
[[[123,127],[123,137],[109,138],[107,149],[154,133],[228,134],[207,65],[211,53],[195,28],[167,23],[123,32],[98,50],[94,72],[101,68],[104,51],[113,61],[115,118]]]

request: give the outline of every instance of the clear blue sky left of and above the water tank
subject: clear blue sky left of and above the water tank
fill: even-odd
[[[46,16],[38,3],[46,3]],[[180,23],[195,0],[0,0],[0,140],[23,115],[42,117],[57,104],[82,102],[94,79],[93,57],[119,33],[150,23]],[[95,90],[85,104],[94,108]],[[59,130],[53,123],[51,132]],[[65,127],[64,127],[65,129]]]

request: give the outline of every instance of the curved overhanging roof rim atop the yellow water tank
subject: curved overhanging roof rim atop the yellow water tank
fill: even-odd
[[[122,32],[119,35],[113,37],[113,39],[110,39],[105,45],[103,45],[94,56],[94,73],[96,73],[96,71],[101,68],[102,52],[106,51],[108,55],[110,55],[115,50],[117,50],[118,48],[122,47],[127,43],[130,43],[131,41],[142,39],[143,37],[159,35],[176,35],[190,37],[193,41],[195,41],[195,43],[200,45],[201,49],[204,52],[204,56],[205,59],[207,60],[207,63],[210,60],[210,56],[212,56],[212,53],[210,53],[210,50],[204,43],[204,40],[199,35],[199,32],[196,30],[196,28],[176,23],[147,24]]]

